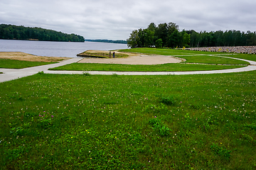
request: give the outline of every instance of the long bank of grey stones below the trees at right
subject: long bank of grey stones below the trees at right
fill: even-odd
[[[191,47],[186,50],[208,51],[208,52],[234,52],[256,54],[256,46],[236,46],[236,47]]]

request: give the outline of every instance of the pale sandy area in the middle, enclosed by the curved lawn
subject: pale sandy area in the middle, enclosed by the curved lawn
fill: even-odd
[[[79,63],[102,63],[102,64],[166,64],[184,62],[181,58],[166,55],[143,55],[131,52],[116,52],[128,55],[125,58],[85,58]]]

